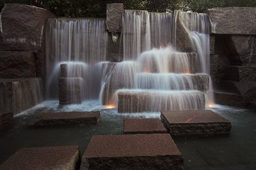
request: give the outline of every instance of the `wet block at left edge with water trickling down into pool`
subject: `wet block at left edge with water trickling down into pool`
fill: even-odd
[[[43,100],[42,78],[0,80],[0,110],[14,114],[28,110]]]

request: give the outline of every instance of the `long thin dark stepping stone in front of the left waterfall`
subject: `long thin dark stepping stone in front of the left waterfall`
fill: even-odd
[[[100,111],[76,111],[60,113],[36,113],[33,116],[33,126],[56,126],[56,125],[86,125],[97,124]]]

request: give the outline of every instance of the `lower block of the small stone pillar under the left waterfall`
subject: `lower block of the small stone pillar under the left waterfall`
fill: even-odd
[[[59,78],[59,101],[60,104],[82,103],[82,78]]]

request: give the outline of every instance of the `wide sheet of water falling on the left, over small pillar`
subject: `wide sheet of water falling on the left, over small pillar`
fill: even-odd
[[[106,60],[106,21],[87,18],[51,18],[46,28],[47,99],[58,97],[60,66],[67,66],[67,89],[71,78],[83,78],[83,99],[97,99],[102,64]],[[83,71],[81,70],[83,69]],[[84,72],[77,75],[77,71]],[[76,94],[74,94],[76,95]]]

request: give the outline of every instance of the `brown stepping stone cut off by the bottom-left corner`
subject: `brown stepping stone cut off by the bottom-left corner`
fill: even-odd
[[[79,146],[21,148],[0,169],[79,169]]]

